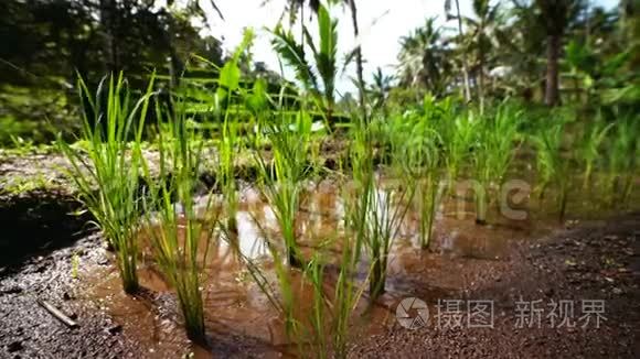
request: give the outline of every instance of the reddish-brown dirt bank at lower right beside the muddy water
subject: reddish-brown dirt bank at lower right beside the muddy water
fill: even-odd
[[[454,328],[454,325],[442,325],[445,320],[437,325],[437,319],[414,330],[395,324],[385,333],[359,342],[352,348],[352,356],[639,358],[639,236],[640,214],[633,214],[580,224],[538,243],[516,246],[504,263],[487,265],[481,272],[458,272],[457,275],[468,276],[469,287],[450,297],[493,301],[493,328],[473,328],[465,324]],[[447,275],[446,272],[440,274]],[[583,309],[588,312],[583,308],[583,301],[591,300],[605,304],[599,327],[594,316],[586,326],[586,318],[579,320]],[[532,301],[540,302],[531,306]],[[562,314],[555,324],[552,323],[552,301],[574,303],[573,315],[565,316],[574,319],[567,322],[569,326],[561,327]],[[526,308],[544,309],[540,325],[537,316]],[[447,317],[445,308],[440,313]],[[523,318],[531,320],[519,323]]]

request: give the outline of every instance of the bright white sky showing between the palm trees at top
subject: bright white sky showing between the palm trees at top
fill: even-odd
[[[273,29],[277,24],[282,14],[282,9],[285,9],[286,0],[214,1],[221,10],[224,20],[217,17],[209,1],[201,1],[201,4],[210,14],[207,17],[209,31],[214,36],[222,37],[223,48],[233,51],[242,40],[243,29],[252,26],[257,36],[253,47],[254,61],[264,62],[269,69],[279,72],[278,57],[271,50],[270,34],[265,28]],[[445,24],[444,2],[444,0],[356,0],[358,19],[361,29],[359,41],[365,59],[365,80],[371,79],[372,73],[377,67],[381,67],[385,74],[394,73],[394,64],[399,51],[398,40],[424,24],[425,19],[437,17],[441,24]],[[611,8],[618,3],[618,0],[591,0],[591,3]],[[460,8],[463,15],[470,14],[471,0],[460,0]],[[339,52],[341,54],[348,53],[356,45],[349,9],[337,6],[332,8],[331,13],[338,18]],[[288,25],[287,15],[285,21]],[[449,22],[446,25],[456,26],[456,23]],[[299,25],[296,29],[299,29]],[[343,55],[340,55],[339,58],[343,58]],[[285,76],[294,79],[292,73],[288,69],[285,70]],[[354,65],[349,66],[344,73],[340,74],[337,84],[339,95],[354,91],[355,86],[351,80],[354,76]]]

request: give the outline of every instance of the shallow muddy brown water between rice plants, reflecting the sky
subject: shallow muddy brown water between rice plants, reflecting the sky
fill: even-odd
[[[384,193],[378,192],[381,198]],[[329,261],[339,258],[340,241],[337,239],[345,236],[342,197],[329,182],[309,187],[303,193],[296,219],[303,255],[309,257],[321,250]],[[494,206],[490,206],[490,225],[477,226],[470,196],[455,194],[448,197],[451,198],[438,208],[429,251],[422,250],[418,244],[418,214],[407,213],[392,246],[386,293],[373,307],[359,306],[355,314],[358,330],[354,333],[376,333],[392,325],[395,305],[403,297],[419,296],[433,305],[438,298],[461,293],[468,282],[465,275],[456,271],[461,271],[469,263],[502,261],[513,241],[541,238],[557,228],[555,219],[534,218],[532,215],[520,220],[505,218]],[[523,208],[527,206],[526,202],[521,204]],[[202,217],[206,218],[206,214],[203,213]],[[234,238],[224,239],[218,231],[214,231],[214,238],[206,239],[209,248],[203,262],[202,285],[211,348],[191,347],[184,338],[175,298],[153,263],[148,239],[141,238],[143,264],[140,269],[141,284],[150,290],[147,295],[124,295],[113,269],[98,272],[92,280],[90,295],[104,304],[105,309],[141,346],[150,348],[152,357],[174,357],[184,352],[202,358],[212,353],[291,355],[297,346],[287,340],[280,315],[255,284],[235,249],[228,244],[230,241],[235,243],[242,255],[259,266],[267,282],[277,287],[273,259],[266,244],[266,239],[278,238],[276,215],[259,193],[249,188],[242,193],[236,221],[237,236]],[[291,275],[300,303],[298,311],[302,315],[311,309],[312,293],[300,273],[292,271]],[[331,281],[331,275],[327,276]],[[365,278],[364,273],[362,278]]]

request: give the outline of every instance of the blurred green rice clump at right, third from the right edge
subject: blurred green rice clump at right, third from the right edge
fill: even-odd
[[[562,152],[564,134],[564,117],[557,116],[548,121],[546,127],[541,127],[532,138],[536,149],[536,167],[538,175],[537,192],[540,199],[550,185],[557,187],[558,219],[565,216],[568,199],[568,171],[569,159]]]

